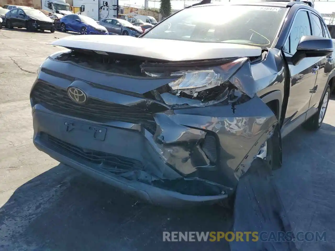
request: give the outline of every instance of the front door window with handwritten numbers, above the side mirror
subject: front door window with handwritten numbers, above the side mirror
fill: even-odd
[[[296,52],[300,38],[311,34],[311,26],[307,11],[298,11],[295,15],[295,19],[283,51],[293,55]]]

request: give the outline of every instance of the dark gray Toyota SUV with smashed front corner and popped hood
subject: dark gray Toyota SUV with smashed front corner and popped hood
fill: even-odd
[[[253,160],[279,168],[281,138],[322,124],[333,43],[309,4],[200,3],[139,38],[53,42],[66,49],[31,89],[35,146],[151,203],[227,201]]]

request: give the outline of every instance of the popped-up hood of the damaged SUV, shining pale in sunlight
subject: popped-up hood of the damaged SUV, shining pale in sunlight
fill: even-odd
[[[193,61],[232,57],[258,57],[261,48],[225,43],[199,43],[132,36],[78,35],[58,39],[51,45],[134,55],[166,61]]]

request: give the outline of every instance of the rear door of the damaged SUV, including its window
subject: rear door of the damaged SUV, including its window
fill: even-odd
[[[310,19],[311,19],[311,24],[312,24],[312,34],[314,36],[321,36],[321,37],[326,37],[330,38],[330,35],[326,29],[326,24],[324,23],[323,19],[321,17],[310,11]],[[312,97],[310,101],[310,109],[313,109],[316,111],[316,109],[319,106],[320,99],[322,98],[323,91],[325,90],[329,74],[332,73],[333,68],[334,68],[334,55],[331,54],[327,57],[319,57],[319,70],[317,74],[317,79],[315,86],[312,91]],[[311,110],[311,111],[313,111]]]

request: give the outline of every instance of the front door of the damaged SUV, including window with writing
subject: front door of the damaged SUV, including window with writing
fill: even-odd
[[[294,55],[299,40],[304,35],[312,35],[308,10],[298,9],[283,48],[286,58]],[[306,119],[304,113],[309,109],[311,90],[314,88],[320,69],[319,61],[319,58],[304,58],[297,65],[288,64],[291,82],[284,123],[290,123],[300,115],[302,115],[299,118],[302,120],[300,122]]]

